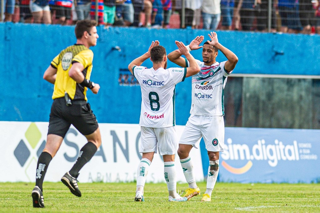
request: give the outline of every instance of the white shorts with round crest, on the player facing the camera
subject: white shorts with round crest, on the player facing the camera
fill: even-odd
[[[223,116],[206,116],[191,114],[183,130],[179,144],[196,143],[203,137],[205,148],[211,152],[223,152],[224,120]]]

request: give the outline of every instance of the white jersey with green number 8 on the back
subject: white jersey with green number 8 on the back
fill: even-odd
[[[175,126],[175,86],[184,81],[187,68],[132,68],[134,77],[141,87],[140,126],[170,127]]]

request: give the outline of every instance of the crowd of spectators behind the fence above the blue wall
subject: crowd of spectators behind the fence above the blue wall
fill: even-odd
[[[106,26],[269,30],[268,0],[3,1],[4,21],[71,25],[77,20],[95,19]],[[320,34],[318,0],[271,1],[271,32]]]

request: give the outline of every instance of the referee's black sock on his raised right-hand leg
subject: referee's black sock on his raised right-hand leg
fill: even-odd
[[[75,165],[71,168],[69,171],[70,175],[72,177],[78,177],[78,173],[81,170],[81,168],[86,164],[90,159],[93,157],[93,155],[97,152],[97,146],[94,145],[92,142],[86,143],[80,150],[79,157],[76,160]]]

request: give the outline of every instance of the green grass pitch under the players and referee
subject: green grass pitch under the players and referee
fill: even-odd
[[[201,194],[205,183],[198,183]],[[44,209],[32,207],[34,183],[0,183],[0,212],[320,212],[320,184],[216,183],[211,202],[201,195],[169,202],[165,183],[146,184],[134,202],[135,183],[79,183],[82,197],[62,183],[44,183]],[[178,184],[181,192],[188,184]]]

